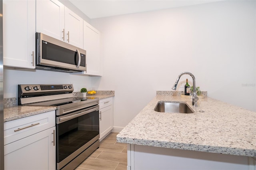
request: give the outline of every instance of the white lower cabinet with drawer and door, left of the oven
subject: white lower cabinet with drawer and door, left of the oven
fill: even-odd
[[[55,170],[55,136],[55,111],[5,122],[4,169]]]

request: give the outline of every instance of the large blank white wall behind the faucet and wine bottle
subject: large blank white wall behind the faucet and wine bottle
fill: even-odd
[[[170,91],[183,71],[209,97],[256,111],[255,9],[255,1],[223,1],[91,20],[104,58],[92,84],[115,90],[114,126],[127,125],[156,90]]]

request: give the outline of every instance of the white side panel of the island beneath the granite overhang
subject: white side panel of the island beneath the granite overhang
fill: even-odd
[[[130,145],[130,146],[129,146]],[[254,170],[252,158],[128,144],[127,170]],[[130,161],[130,162],[129,162]]]

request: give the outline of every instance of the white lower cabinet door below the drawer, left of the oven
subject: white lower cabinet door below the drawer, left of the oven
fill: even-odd
[[[55,127],[4,146],[5,170],[55,170]]]

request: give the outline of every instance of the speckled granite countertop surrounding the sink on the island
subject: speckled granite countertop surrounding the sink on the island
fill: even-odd
[[[183,101],[195,113],[159,113],[158,101]],[[256,157],[256,113],[210,97],[193,107],[192,99],[156,95],[116,137],[128,144]]]

